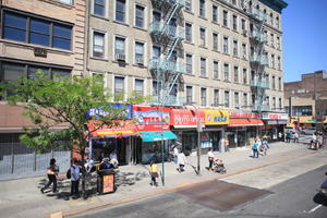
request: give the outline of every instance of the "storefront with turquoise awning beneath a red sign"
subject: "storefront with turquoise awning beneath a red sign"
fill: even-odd
[[[133,118],[136,121],[136,131],[140,140],[136,147],[140,147],[138,161],[149,164],[161,161],[161,149],[167,156],[171,141],[177,136],[170,131],[170,109],[146,106],[133,106]]]

